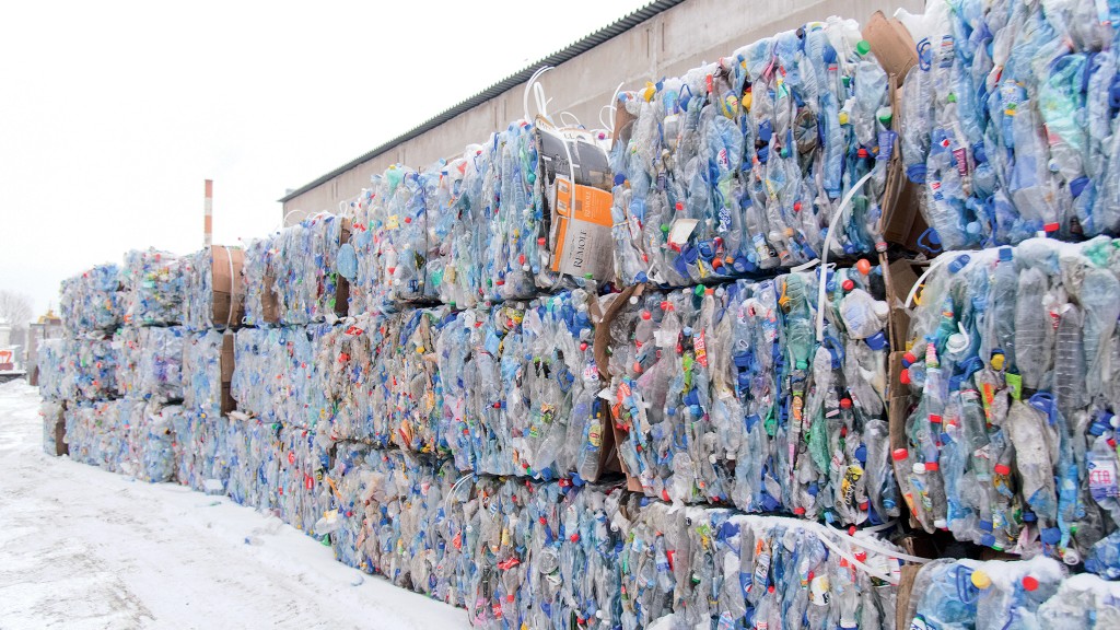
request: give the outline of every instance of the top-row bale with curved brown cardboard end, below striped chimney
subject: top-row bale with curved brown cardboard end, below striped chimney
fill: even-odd
[[[192,331],[230,328],[244,317],[241,248],[212,245],[183,257],[183,324]]]

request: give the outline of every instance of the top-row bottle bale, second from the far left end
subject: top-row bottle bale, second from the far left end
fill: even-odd
[[[156,249],[132,250],[124,254],[121,278],[128,298],[127,324],[151,326],[181,323],[187,275],[179,257]]]

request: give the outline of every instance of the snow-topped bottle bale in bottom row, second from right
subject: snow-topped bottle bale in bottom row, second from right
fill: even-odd
[[[799,519],[646,502],[632,497],[629,516],[612,521],[626,541],[622,628],[666,614],[668,628],[895,627],[902,565],[892,544]]]

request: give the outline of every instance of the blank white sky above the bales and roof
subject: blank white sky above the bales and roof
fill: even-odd
[[[277,226],[296,188],[648,0],[0,7],[0,289]],[[418,95],[419,94],[419,95]]]

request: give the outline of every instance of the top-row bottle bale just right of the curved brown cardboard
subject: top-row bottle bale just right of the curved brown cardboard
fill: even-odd
[[[243,267],[245,324],[333,322],[342,230],[340,217],[321,213],[250,243]]]

